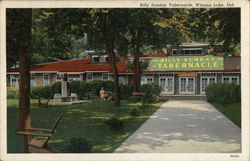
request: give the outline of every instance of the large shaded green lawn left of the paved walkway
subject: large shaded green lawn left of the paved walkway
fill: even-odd
[[[22,153],[22,136],[16,135],[18,124],[18,100],[8,100],[7,110],[7,134],[8,152]],[[92,152],[113,152],[126,138],[128,138],[143,122],[145,122],[162,104],[162,102],[150,104],[140,116],[133,117],[129,109],[140,106],[141,103],[122,102],[121,107],[114,107],[111,102],[95,101],[92,103],[53,106],[49,108],[38,107],[37,100],[31,100],[31,124],[32,127],[51,128],[61,113],[65,115],[57,127],[55,135],[49,144],[63,153],[69,152],[67,145],[73,137],[86,137],[93,145]],[[124,120],[124,128],[120,131],[112,131],[104,120],[115,113]]]

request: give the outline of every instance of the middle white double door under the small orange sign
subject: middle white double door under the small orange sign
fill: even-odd
[[[180,94],[195,94],[195,77],[180,77],[179,78],[179,93]]]

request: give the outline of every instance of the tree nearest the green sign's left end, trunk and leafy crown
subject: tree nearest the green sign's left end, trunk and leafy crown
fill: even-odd
[[[179,9],[129,9],[127,38],[134,55],[134,91],[140,86],[140,49],[143,46],[161,49],[178,44],[186,32],[186,28],[173,19],[180,13],[182,10]]]

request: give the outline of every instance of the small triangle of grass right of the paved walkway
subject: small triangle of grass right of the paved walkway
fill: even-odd
[[[219,103],[211,103],[216,109],[223,113],[228,119],[230,119],[237,126],[241,127],[241,103],[232,103],[222,105]]]

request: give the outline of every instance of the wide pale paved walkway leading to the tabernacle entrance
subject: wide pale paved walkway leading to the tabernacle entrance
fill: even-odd
[[[241,130],[203,100],[170,100],[117,153],[237,153]]]

